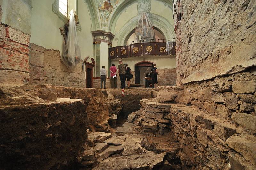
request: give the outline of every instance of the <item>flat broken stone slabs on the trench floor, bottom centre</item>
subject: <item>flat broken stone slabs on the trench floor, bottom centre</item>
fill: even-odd
[[[144,149],[141,135],[124,134],[112,136],[111,133],[88,132],[88,144],[84,152],[76,157],[80,169],[160,169],[170,168],[164,161],[166,152],[155,154]]]

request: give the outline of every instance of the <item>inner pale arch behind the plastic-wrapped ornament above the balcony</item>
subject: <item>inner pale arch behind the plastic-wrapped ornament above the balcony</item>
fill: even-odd
[[[166,39],[175,38],[174,25],[171,24],[166,18],[157,14],[151,14],[150,19],[156,30],[161,32]],[[127,36],[128,38],[131,36],[131,31],[137,26],[137,21],[138,16],[135,16],[124,24],[124,26],[120,29],[120,32],[115,36],[117,39],[117,46],[126,45],[128,40]]]

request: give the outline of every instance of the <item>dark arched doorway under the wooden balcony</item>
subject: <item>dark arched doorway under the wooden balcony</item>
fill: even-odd
[[[141,61],[136,63],[134,66],[135,71],[135,84],[143,84],[145,85],[145,73],[147,70],[151,70],[151,67],[154,65],[153,62],[150,61]]]

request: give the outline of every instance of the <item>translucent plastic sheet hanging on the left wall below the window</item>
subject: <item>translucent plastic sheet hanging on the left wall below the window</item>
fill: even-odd
[[[73,69],[81,60],[81,52],[78,43],[76,21],[74,12],[69,12],[70,20],[68,26],[68,33],[66,38],[66,44],[64,45],[62,61],[69,68]]]

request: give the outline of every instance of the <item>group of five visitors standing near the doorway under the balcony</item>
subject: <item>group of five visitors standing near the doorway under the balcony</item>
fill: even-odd
[[[117,88],[117,71],[119,73],[119,78],[121,81],[121,89],[125,88],[125,81],[127,80],[127,88],[130,88],[130,79],[133,77],[131,73],[131,68],[128,67],[128,64],[124,64],[122,60],[119,60],[119,65],[116,68],[115,64],[112,64],[110,67],[110,87],[112,89]],[[157,75],[158,75],[158,70],[156,68],[156,64],[154,64],[154,67],[151,69],[152,72],[152,79],[151,79],[151,84],[149,85],[150,87],[153,86],[156,88],[157,82]],[[106,78],[107,78],[107,73],[105,70],[105,66],[102,66],[100,69],[100,88],[102,89],[102,82],[104,82],[104,89],[106,89]]]

